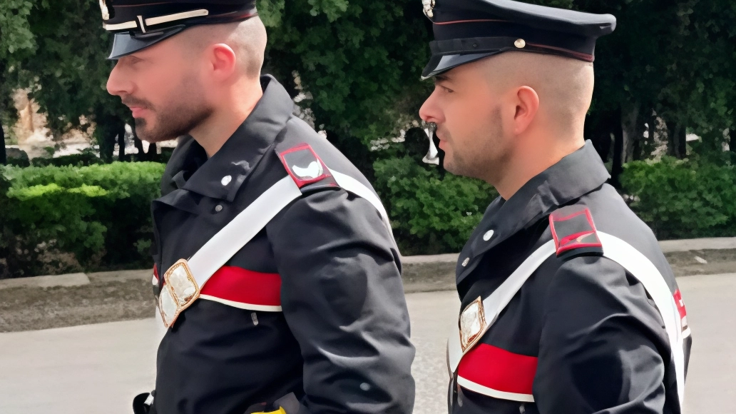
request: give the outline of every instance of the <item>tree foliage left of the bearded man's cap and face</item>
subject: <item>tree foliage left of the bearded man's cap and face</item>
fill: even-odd
[[[0,7],[13,16],[9,18],[10,36],[0,41],[4,46],[0,69],[4,65],[12,80],[7,86],[30,91],[30,97],[48,115],[54,136],[88,126],[82,122],[95,122],[101,154],[110,160],[114,139],[124,134],[130,111],[105,89],[113,66],[106,60],[112,38],[102,29],[97,2],[0,1],[16,4],[19,10],[14,13]],[[7,86],[2,91],[5,96]]]

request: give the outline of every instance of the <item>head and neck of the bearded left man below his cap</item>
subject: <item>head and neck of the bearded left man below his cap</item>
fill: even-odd
[[[258,17],[190,27],[121,57],[107,91],[132,110],[139,138],[198,134],[214,153],[261,98],[265,49],[266,28]],[[209,146],[212,136],[219,138]]]

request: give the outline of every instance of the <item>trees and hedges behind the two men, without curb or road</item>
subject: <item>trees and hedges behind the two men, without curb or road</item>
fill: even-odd
[[[612,13],[587,138],[659,239],[736,234],[732,0],[529,1]],[[422,163],[431,24],[420,1],[261,0],[264,72],[372,180],[404,255],[459,251],[497,194]],[[149,266],[148,145],[105,91],[97,1],[0,0],[0,278]]]

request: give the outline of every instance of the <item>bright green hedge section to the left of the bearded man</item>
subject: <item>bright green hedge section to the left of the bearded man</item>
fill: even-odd
[[[0,277],[149,266],[163,169],[0,166]]]

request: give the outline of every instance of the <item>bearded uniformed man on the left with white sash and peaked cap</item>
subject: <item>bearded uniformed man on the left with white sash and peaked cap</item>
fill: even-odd
[[[252,0],[102,0],[107,90],[189,135],[152,205],[166,334],[136,413],[411,413],[414,348],[380,200],[261,76]]]

